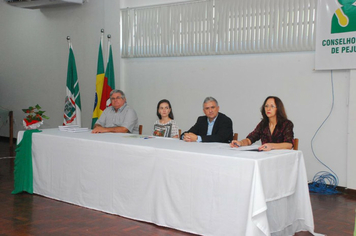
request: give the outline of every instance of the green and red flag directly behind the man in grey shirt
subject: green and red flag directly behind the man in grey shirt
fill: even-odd
[[[106,65],[105,78],[103,84],[103,91],[101,94],[100,110],[105,110],[106,107],[110,106],[110,92],[115,89],[115,74],[114,74],[114,62],[112,56],[112,49],[110,40],[108,42],[109,48],[109,58]]]

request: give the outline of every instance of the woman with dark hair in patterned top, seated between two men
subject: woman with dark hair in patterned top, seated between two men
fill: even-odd
[[[174,121],[171,103],[167,99],[158,102],[157,116],[159,120],[153,125],[153,135],[178,138],[178,126]]]

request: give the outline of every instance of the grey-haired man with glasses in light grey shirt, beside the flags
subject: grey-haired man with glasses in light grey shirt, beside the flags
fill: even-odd
[[[111,106],[107,107],[96,121],[92,133],[135,133],[138,134],[138,117],[129,107],[123,91],[110,92]]]

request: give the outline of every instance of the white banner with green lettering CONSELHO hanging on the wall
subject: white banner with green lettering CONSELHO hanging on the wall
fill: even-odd
[[[315,69],[356,69],[356,1],[318,0]]]

